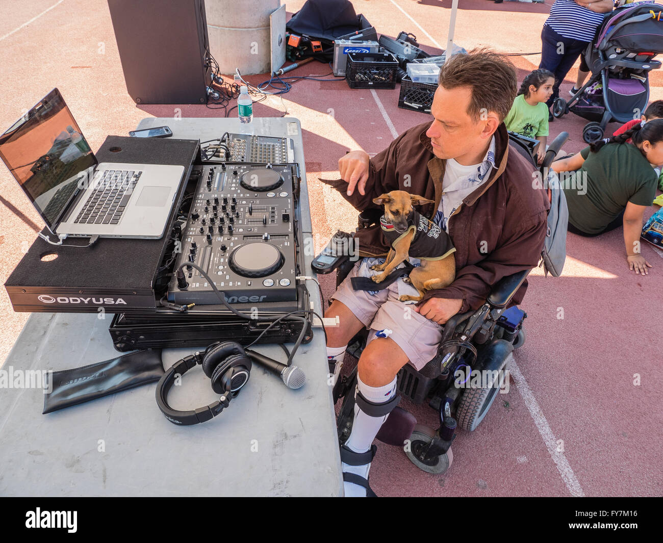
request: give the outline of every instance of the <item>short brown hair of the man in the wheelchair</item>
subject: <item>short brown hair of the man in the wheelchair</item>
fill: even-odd
[[[506,56],[487,48],[455,54],[440,68],[440,86],[470,87],[467,115],[478,123],[483,111],[495,111],[500,122],[511,110],[518,90],[516,69]]]

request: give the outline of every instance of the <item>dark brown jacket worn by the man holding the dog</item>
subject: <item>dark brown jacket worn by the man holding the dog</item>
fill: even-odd
[[[377,208],[373,198],[391,190],[420,194],[435,204],[420,208],[433,219],[442,198],[445,160],[433,154],[426,130],[430,123],[402,133],[385,151],[371,159],[366,194],[355,189],[347,196],[347,182],[322,180],[341,192],[357,210]],[[509,152],[511,151],[511,152]],[[508,160],[507,160],[508,159]],[[456,278],[428,298],[462,299],[461,312],[475,310],[485,302],[491,285],[513,273],[536,267],[547,229],[546,192],[532,188],[534,166],[518,151],[509,148],[504,123],[495,131],[495,164],[489,180],[469,194],[449,220],[449,235],[455,245]],[[389,247],[379,225],[357,231],[361,256],[386,255]],[[522,301],[527,282],[512,303]]]

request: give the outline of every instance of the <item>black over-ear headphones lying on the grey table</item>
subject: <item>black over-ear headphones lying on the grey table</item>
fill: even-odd
[[[168,405],[166,397],[175,382],[176,375],[184,375],[195,365],[203,367],[205,375],[211,379],[211,389],[221,394],[219,401],[200,407],[194,411],[177,411]],[[239,389],[249,381],[251,359],[243,347],[235,341],[212,343],[204,353],[200,351],[178,360],[156,385],[156,404],[173,424],[189,426],[205,422],[217,416],[228,406],[230,400],[239,394]]]

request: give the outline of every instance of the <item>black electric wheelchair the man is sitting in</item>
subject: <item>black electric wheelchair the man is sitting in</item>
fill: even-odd
[[[568,138],[562,132],[550,144],[540,170],[552,164],[556,154]],[[509,133],[511,150],[525,156],[536,167],[538,140]],[[530,180],[528,180],[530,182]],[[379,221],[382,210],[367,210],[359,215],[358,228],[368,227]],[[335,235],[349,237],[339,232]],[[347,241],[347,240],[346,240]],[[349,257],[337,261],[336,286],[351,271],[355,262]],[[434,430],[416,424],[410,412],[396,406],[383,424],[377,439],[393,446],[404,447],[407,457],[428,473],[444,473],[453,461],[451,445],[457,428],[472,431],[485,418],[489,408],[503,387],[512,351],[524,344],[522,328],[526,314],[516,306],[509,307],[530,270],[507,276],[497,282],[487,300],[477,311],[453,316],[445,325],[438,354],[421,371],[406,364],[398,372],[397,390],[415,404],[428,404],[439,414],[439,428]],[[365,347],[369,330],[361,330],[348,344],[346,353],[359,360]],[[333,368],[330,368],[333,372]],[[489,375],[480,386],[469,382],[469,375]],[[460,376],[460,377],[458,377]],[[462,377],[465,377],[463,380]],[[333,388],[334,403],[343,398],[337,416],[339,444],[350,435],[355,407],[354,390],[357,383],[357,365],[349,375],[339,377]],[[469,386],[467,386],[469,385]],[[408,441],[409,440],[409,441]]]

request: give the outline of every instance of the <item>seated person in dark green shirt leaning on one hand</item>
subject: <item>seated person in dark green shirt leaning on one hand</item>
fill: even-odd
[[[654,167],[661,164],[663,119],[637,124],[553,162],[550,168],[560,174],[569,207],[569,231],[595,236],[623,225],[629,269],[647,275],[652,265],[640,255],[642,216],[656,196]]]

